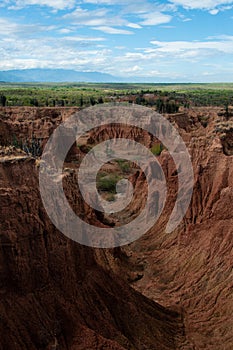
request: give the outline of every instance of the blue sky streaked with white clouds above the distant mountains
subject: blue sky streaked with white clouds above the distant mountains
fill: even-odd
[[[233,81],[233,0],[2,0],[0,70]]]

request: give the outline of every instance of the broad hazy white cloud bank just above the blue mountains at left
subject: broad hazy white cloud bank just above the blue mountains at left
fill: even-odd
[[[111,54],[111,50],[105,48],[83,49],[81,41],[74,43],[67,38],[57,38],[56,41],[52,37],[41,39],[40,45],[36,39],[15,41],[6,38],[0,48],[0,69],[40,67],[102,71]]]

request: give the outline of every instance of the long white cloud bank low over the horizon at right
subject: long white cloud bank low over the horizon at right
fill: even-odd
[[[215,64],[216,62],[225,62],[228,72],[233,73],[233,68],[230,68],[229,64],[233,54],[233,37],[231,36],[222,36],[219,40],[214,38],[214,40],[203,42],[153,40],[151,43],[154,47],[138,48],[137,51],[141,52],[135,52],[135,49],[121,56],[116,56],[112,61],[112,67],[114,68],[111,70],[111,67],[108,67],[108,72],[114,74],[114,69],[118,67],[123,72],[122,74],[135,76],[133,68],[140,67],[138,71],[135,69],[137,76],[151,77],[155,75],[174,79],[180,79],[183,76],[184,80],[189,77],[189,81],[195,81],[201,79],[202,72],[206,72],[206,63],[211,61]],[[224,65],[221,67],[221,64],[219,64],[219,67],[218,77],[221,72],[225,74]],[[155,68],[158,74],[155,73]],[[215,68],[210,69],[210,73],[215,74],[214,70]],[[149,72],[151,72],[151,75]]]

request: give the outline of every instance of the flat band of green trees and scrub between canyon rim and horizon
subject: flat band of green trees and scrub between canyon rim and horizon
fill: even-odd
[[[233,84],[0,83],[1,106],[87,107],[105,102],[136,103],[161,113],[180,106],[233,105]]]

